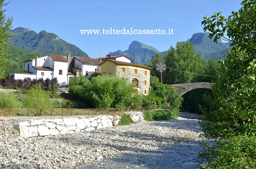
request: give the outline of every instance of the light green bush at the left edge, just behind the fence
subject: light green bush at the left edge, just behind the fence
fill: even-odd
[[[18,108],[19,102],[13,93],[1,93],[0,108],[14,109]]]

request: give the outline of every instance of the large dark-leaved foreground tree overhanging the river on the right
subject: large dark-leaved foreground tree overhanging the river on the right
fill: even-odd
[[[244,0],[241,5],[243,7],[228,18],[220,12],[203,17],[203,29],[211,32],[209,37],[215,42],[219,38],[228,40],[232,46],[226,58],[218,62],[220,71],[212,86],[213,97],[205,98],[209,108],[203,109],[205,119],[199,124],[207,139],[230,142],[231,136],[254,137],[256,134],[256,0]],[[216,145],[220,144],[205,143],[201,157],[212,160],[212,154],[221,155],[218,149],[210,148]]]

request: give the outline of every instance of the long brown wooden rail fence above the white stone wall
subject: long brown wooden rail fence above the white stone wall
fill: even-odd
[[[97,115],[115,114],[127,111],[157,110],[163,107],[122,107],[119,109],[0,109],[0,116],[77,116],[77,115]]]

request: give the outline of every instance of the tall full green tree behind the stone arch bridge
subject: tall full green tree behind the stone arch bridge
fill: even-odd
[[[193,73],[203,73],[205,65],[205,60],[201,58],[201,54],[195,54],[195,49],[189,39],[177,42],[176,48],[171,46],[164,60],[166,67],[168,67],[163,73],[165,84],[191,83],[196,77]]]

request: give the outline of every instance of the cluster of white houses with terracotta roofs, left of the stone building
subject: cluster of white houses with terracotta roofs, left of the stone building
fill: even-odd
[[[24,79],[29,77],[31,79],[57,78],[60,86],[68,86],[69,77],[85,76],[89,78],[91,74],[95,72],[95,69],[99,72],[98,66],[101,61],[98,59],[91,59],[85,57],[72,57],[62,55],[48,55],[43,57],[37,57],[24,61],[25,69],[30,73],[16,73],[12,72],[9,76],[14,79]]]

